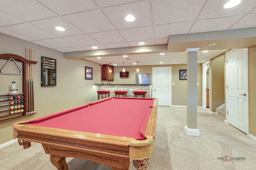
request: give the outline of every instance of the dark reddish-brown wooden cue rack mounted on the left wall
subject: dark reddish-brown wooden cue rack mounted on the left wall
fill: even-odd
[[[28,89],[27,86],[28,86],[28,84],[27,84],[27,81],[26,81],[26,74],[27,74],[27,71],[28,71],[28,64],[36,64],[38,62],[37,61],[27,60],[27,59],[25,59],[25,58],[23,58],[23,57],[21,57],[19,55],[15,55],[15,54],[8,54],[8,53],[0,54],[0,59],[9,60],[10,58],[14,59],[14,61],[22,62],[22,93],[17,94],[17,95],[5,94],[5,95],[0,95],[0,96],[6,96],[8,98],[8,99],[2,100],[2,101],[9,101],[9,97],[12,97],[12,96],[19,96],[19,95],[24,96],[24,98],[23,98],[24,103],[20,103],[20,104],[24,105],[24,112],[23,113],[19,113],[19,114],[22,114],[22,115],[14,116],[17,113],[10,114],[9,112],[12,111],[11,109],[1,110],[1,107],[0,107],[0,113],[1,112],[7,112],[8,113],[8,114],[6,113],[6,115],[0,115],[0,118],[4,117],[4,119],[1,119],[0,122],[5,122],[5,121],[13,120],[13,119],[18,119],[20,117],[25,117],[25,116],[36,114],[36,113],[34,113],[34,111],[33,111],[33,113],[26,114],[26,111],[28,110],[28,107],[31,107],[30,106],[31,104],[34,106],[34,101],[30,102],[30,101],[27,100],[29,98],[29,96],[28,96],[28,93],[27,93],[27,89]],[[31,92],[34,93],[34,90],[32,90]],[[10,100],[10,102],[11,101],[12,100]],[[12,105],[7,104],[7,105],[2,105],[2,106],[6,106],[6,107],[9,106],[10,107]]]

